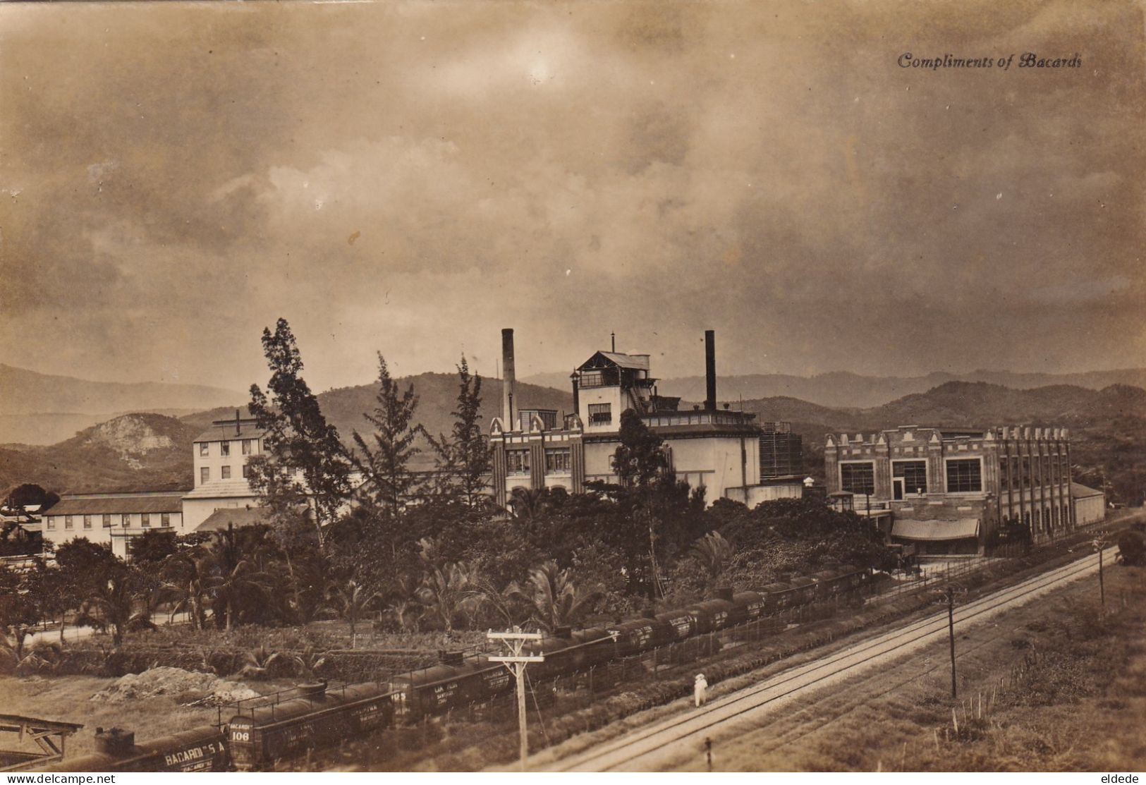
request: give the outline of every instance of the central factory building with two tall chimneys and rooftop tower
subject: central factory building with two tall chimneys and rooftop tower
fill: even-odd
[[[707,397],[704,406],[680,409],[680,399],[660,395],[647,354],[595,352],[571,377],[574,413],[558,427],[557,413],[518,408],[515,400],[513,331],[502,330],[502,416],[490,427],[493,492],[504,505],[515,487],[560,486],[572,493],[586,482],[615,482],[612,460],[620,446],[621,413],[631,409],[665,441],[677,479],[704,487],[708,503],[721,497],[749,505],[799,497],[802,486],[760,482],[760,437],[755,415],[716,403],[716,355],[705,333]]]

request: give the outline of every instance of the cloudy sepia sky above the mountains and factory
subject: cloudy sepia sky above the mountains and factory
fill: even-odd
[[[1116,0],[3,3],[0,362],[1146,366],[1144,52]]]

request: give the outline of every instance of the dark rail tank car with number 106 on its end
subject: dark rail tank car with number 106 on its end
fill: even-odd
[[[297,698],[253,706],[230,719],[228,738],[236,769],[267,769],[281,757],[393,725],[394,700],[386,684],[367,682],[328,690],[320,682],[303,685],[300,692]]]

